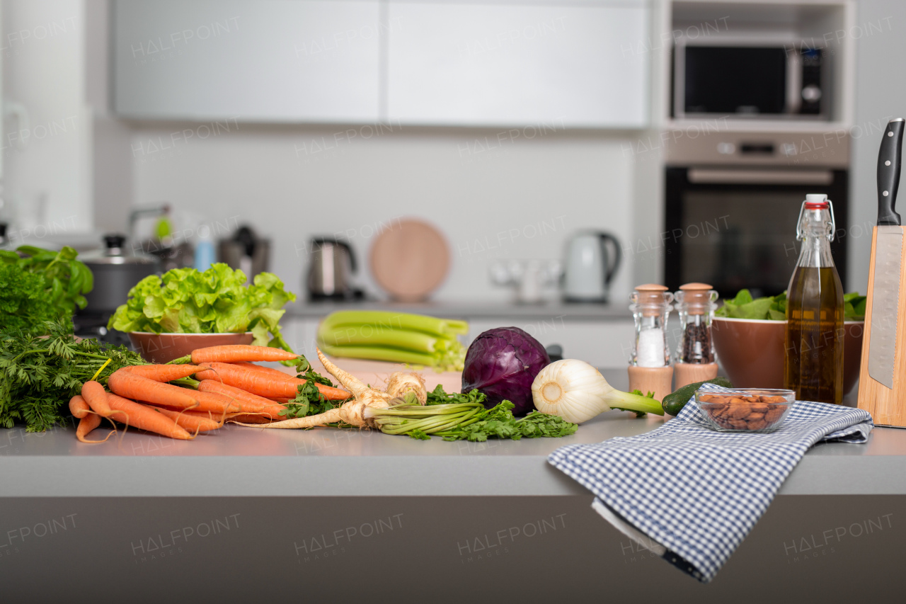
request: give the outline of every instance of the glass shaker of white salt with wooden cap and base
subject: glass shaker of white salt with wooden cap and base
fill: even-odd
[[[667,317],[673,294],[667,287],[648,284],[635,288],[630,296],[630,310],[635,319],[635,341],[629,366],[629,389],[649,392],[662,400],[673,383],[670,349],[667,346]]]

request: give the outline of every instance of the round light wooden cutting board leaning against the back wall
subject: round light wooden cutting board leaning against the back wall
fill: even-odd
[[[415,219],[385,230],[371,246],[371,274],[393,299],[424,300],[447,277],[447,240],[426,222]]]

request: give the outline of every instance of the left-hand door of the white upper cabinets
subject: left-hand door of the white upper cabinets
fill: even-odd
[[[114,0],[131,118],[377,122],[378,0]]]

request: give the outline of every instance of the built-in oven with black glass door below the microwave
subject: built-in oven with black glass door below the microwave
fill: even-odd
[[[824,134],[712,133],[670,150],[664,285],[703,282],[721,297],[743,287],[773,296],[799,254],[796,220],[807,193],[833,201],[834,264],[846,282],[849,140]],[[681,139],[679,139],[681,141]]]

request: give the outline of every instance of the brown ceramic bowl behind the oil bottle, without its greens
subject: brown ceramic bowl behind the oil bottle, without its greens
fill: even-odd
[[[859,381],[864,321],[843,328],[843,394]],[[786,321],[714,317],[718,361],[736,388],[783,388]]]

